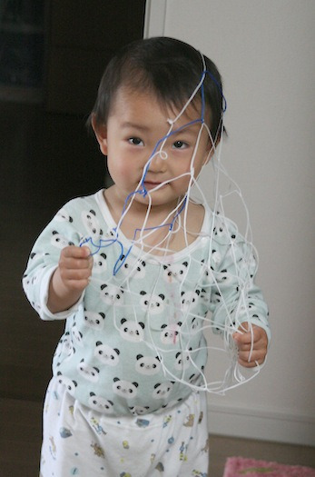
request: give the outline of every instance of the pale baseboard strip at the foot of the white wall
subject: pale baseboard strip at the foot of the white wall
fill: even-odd
[[[208,403],[212,434],[315,446],[313,416]]]

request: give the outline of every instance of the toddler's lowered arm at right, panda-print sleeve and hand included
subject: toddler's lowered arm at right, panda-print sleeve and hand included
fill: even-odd
[[[239,363],[252,368],[266,358],[271,338],[268,307],[254,283],[257,262],[251,243],[227,219],[220,230],[212,243],[216,256],[221,256],[220,263],[212,263],[216,283],[210,303],[213,327],[215,333],[222,334],[231,329]]]

